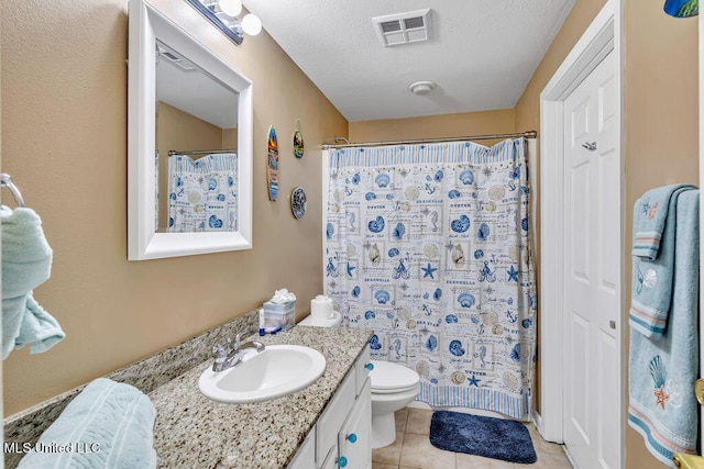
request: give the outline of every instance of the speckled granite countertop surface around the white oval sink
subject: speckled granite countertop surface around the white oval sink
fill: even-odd
[[[326,357],[316,382],[266,402],[226,404],[202,395],[198,379],[212,360],[155,389],[148,397],[156,407],[158,467],[285,468],[371,336],[366,330],[297,325],[249,337],[267,345],[305,345]]]

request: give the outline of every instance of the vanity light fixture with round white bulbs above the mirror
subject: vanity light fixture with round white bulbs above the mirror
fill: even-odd
[[[242,44],[244,35],[255,36],[262,32],[262,20],[248,13],[241,20],[242,0],[186,0],[202,13],[224,35],[237,45]]]

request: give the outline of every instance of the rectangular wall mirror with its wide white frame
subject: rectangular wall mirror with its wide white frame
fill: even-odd
[[[144,0],[129,54],[128,259],[250,249],[252,82]]]

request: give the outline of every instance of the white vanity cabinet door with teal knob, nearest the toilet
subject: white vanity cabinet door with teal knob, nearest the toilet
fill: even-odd
[[[372,394],[367,379],[338,435],[340,459],[346,460],[348,469],[372,467]]]

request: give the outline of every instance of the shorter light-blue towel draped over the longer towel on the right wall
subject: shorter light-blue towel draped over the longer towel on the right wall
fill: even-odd
[[[667,327],[672,300],[674,265],[675,211],[678,198],[694,186],[674,185],[646,192],[634,208],[634,250],[630,311],[631,328],[650,337],[662,334]],[[645,249],[644,233],[653,241]],[[640,241],[639,241],[640,239]],[[654,242],[657,239],[657,243]],[[637,244],[648,256],[637,254]]]

